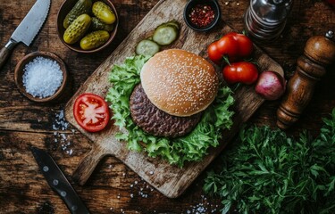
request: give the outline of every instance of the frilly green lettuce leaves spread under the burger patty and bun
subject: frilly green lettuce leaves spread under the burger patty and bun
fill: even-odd
[[[130,116],[130,95],[140,82],[139,73],[150,57],[134,56],[121,65],[114,65],[109,80],[113,84],[106,100],[111,103],[115,125],[126,132],[116,137],[127,142],[128,149],[145,151],[150,157],[162,157],[171,164],[182,167],[185,161],[200,161],[210,146],[217,146],[223,128],[232,125],[233,112],[229,107],[234,103],[229,87],[222,87],[208,107],[197,127],[188,136],[175,139],[150,136],[133,122]]]

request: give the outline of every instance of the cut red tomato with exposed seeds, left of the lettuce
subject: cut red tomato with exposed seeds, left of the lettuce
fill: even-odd
[[[97,132],[107,126],[110,119],[105,100],[93,94],[80,95],[73,105],[74,119],[88,132]]]

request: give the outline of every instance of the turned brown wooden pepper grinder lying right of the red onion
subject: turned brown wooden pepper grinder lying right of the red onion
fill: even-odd
[[[306,42],[304,54],[297,59],[297,70],[289,79],[286,95],[277,111],[277,126],[289,128],[306,108],[314,94],[316,82],[326,73],[325,67],[335,60],[333,31]]]

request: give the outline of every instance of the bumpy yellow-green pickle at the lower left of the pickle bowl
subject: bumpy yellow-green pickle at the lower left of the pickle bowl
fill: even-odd
[[[91,17],[88,14],[81,14],[75,19],[63,35],[63,40],[67,44],[74,44],[80,40],[87,32],[91,24]]]

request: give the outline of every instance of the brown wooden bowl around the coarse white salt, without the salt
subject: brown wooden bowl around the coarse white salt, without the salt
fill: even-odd
[[[26,64],[29,62],[33,61],[35,58],[38,56],[44,57],[46,59],[51,59],[55,62],[58,62],[61,70],[63,71],[63,82],[62,85],[58,87],[54,95],[47,96],[44,98],[39,98],[39,97],[34,97],[33,95],[30,95],[27,91],[25,86],[23,86],[23,74],[24,74],[24,69]],[[19,88],[19,91],[21,92],[22,95],[25,95],[29,100],[38,102],[38,103],[46,103],[46,102],[51,102],[54,101],[56,98],[59,98],[60,95],[62,95],[63,90],[66,86],[66,82],[68,79],[68,72],[66,70],[65,64],[63,60],[57,56],[54,53],[50,52],[33,52],[29,53],[28,55],[24,56],[19,63],[17,63],[15,70],[14,70],[14,80],[16,86]]]

